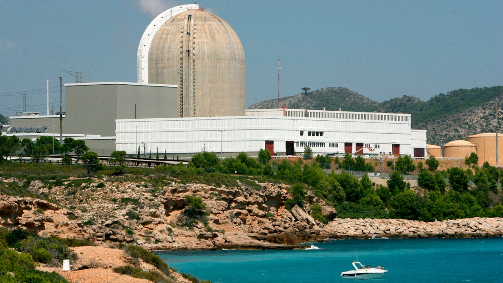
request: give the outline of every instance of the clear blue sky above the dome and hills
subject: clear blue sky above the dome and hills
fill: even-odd
[[[456,89],[503,85],[503,1],[198,2],[239,36],[246,56],[246,107],[346,87],[372,100],[423,100]],[[0,0],[0,114],[59,108],[63,70],[86,82],[136,82],[143,31],[169,0]],[[64,93],[63,93],[64,94]],[[58,109],[56,109],[58,110]]]

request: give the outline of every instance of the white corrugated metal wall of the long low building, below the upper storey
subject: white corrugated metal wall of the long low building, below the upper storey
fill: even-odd
[[[301,135],[303,131],[303,135]],[[308,135],[318,132],[319,135]],[[414,147],[426,148],[426,131],[418,132]],[[149,150],[167,153],[258,152],[266,140],[274,140],[274,151],[284,154],[286,142],[294,142],[297,154],[310,143],[316,153],[344,153],[344,144],[370,145],[363,154],[391,153],[400,145],[400,154],[412,154],[410,121],[369,121],[273,116],[137,119],[116,121],[117,150],[137,151],[142,142]],[[336,146],[325,145],[330,143]],[[424,145],[420,145],[424,143]],[[378,148],[375,148],[377,145]],[[142,149],[143,150],[143,149]]]

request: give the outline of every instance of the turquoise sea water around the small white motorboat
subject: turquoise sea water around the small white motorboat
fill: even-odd
[[[167,264],[213,282],[348,282],[342,271],[386,266],[380,282],[503,282],[503,238],[331,240],[309,250],[158,252]],[[360,281],[360,280],[358,280]]]

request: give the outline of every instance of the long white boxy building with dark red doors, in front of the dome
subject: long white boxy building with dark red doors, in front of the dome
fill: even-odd
[[[246,116],[119,119],[116,150],[195,154],[268,149],[273,155],[411,155],[425,157],[426,130],[411,130],[409,114],[299,109],[246,110]],[[144,146],[144,148],[143,148]]]

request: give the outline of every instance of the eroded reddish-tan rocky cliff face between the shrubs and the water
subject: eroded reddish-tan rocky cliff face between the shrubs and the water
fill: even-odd
[[[135,242],[148,249],[285,248],[283,244],[309,241],[322,231],[322,224],[308,213],[309,203],[320,203],[327,220],[336,216],[332,207],[311,193],[305,207],[285,209],[290,196],[288,186],[281,184],[217,188],[104,182],[97,188],[101,181],[50,189],[34,181],[31,190],[71,210],[40,199],[0,196],[0,224],[44,236]],[[209,213],[206,226],[201,222],[180,226],[186,196],[202,198]]]

